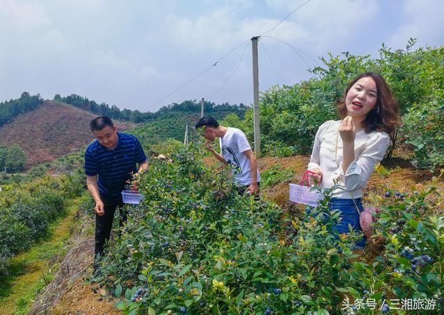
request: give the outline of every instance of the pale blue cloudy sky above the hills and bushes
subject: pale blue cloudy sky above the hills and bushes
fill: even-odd
[[[253,36],[259,91],[310,78],[328,53],[444,42],[443,0],[305,2],[0,0],[0,101],[27,91],[142,112],[202,98],[250,105]]]

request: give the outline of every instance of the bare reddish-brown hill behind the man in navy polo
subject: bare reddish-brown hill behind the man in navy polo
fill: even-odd
[[[27,167],[51,162],[78,151],[93,137],[88,128],[96,114],[57,101],[44,101],[37,109],[20,114],[0,127],[0,145],[19,144],[27,156]],[[119,130],[135,124],[118,122]]]

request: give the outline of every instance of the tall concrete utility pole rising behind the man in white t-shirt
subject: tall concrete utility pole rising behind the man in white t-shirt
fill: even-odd
[[[257,41],[259,36],[251,37],[253,51],[253,116],[255,121],[255,154],[261,157],[261,133],[259,127],[259,65],[257,62]]]

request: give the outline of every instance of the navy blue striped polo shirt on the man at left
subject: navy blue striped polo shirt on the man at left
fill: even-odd
[[[97,184],[101,196],[120,196],[128,185],[127,180],[137,172],[136,163],[146,161],[144,149],[133,135],[117,133],[118,143],[114,150],[105,148],[94,140],[85,152],[85,173],[87,176],[98,175]]]

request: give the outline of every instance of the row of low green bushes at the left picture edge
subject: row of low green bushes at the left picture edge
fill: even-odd
[[[49,223],[65,214],[64,199],[83,191],[80,173],[4,186],[0,191],[0,274],[8,260],[42,239]],[[80,182],[82,184],[80,184]]]

